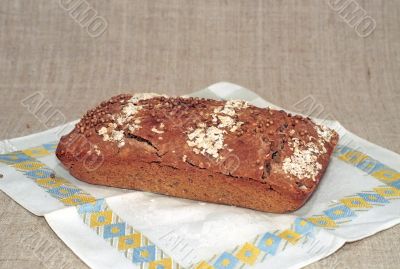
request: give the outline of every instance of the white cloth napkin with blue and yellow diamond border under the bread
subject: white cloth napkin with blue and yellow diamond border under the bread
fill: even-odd
[[[278,108],[227,82],[191,96]],[[326,174],[306,205],[290,214],[76,180],[54,155],[74,123],[0,142],[0,189],[44,216],[92,268],[300,268],[400,222],[400,156],[335,121],[323,121],[340,135]]]

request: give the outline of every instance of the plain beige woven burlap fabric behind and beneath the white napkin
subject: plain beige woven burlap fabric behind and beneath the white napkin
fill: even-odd
[[[86,3],[108,22],[99,37],[59,0],[0,1],[0,139],[46,129],[20,104],[35,91],[72,120],[121,91],[184,94],[224,80],[287,109],[311,95],[350,131],[400,152],[397,0],[356,1],[376,21],[366,38],[326,0]],[[399,239],[397,226],[308,268],[398,268]],[[0,268],[65,264],[87,268],[0,193]]]

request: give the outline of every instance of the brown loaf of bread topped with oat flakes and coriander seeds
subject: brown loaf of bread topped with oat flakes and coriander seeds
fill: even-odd
[[[56,155],[87,183],[282,213],[315,191],[337,141],[245,101],[121,94],[88,111]]]

